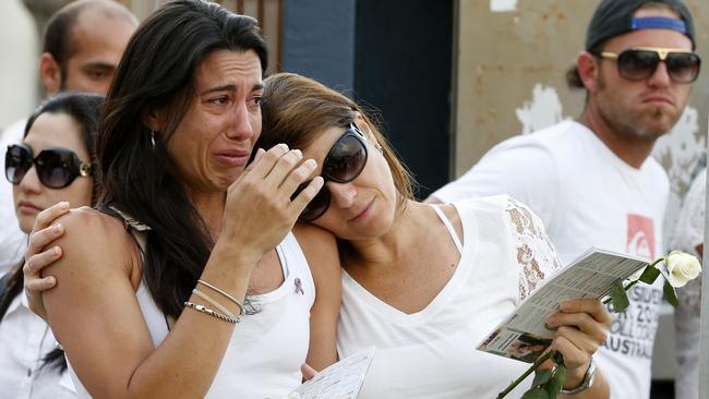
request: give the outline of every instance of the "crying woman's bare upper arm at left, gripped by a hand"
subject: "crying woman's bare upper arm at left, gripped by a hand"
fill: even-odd
[[[94,209],[57,222],[65,233],[56,242],[63,256],[44,270],[58,281],[43,294],[48,323],[84,386],[112,397],[153,350],[135,298],[137,249],[120,221]]]

